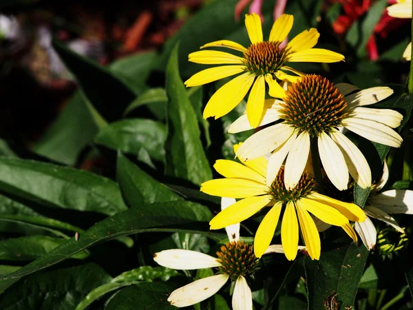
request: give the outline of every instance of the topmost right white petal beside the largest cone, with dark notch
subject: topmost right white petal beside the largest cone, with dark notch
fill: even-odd
[[[348,107],[361,107],[372,105],[386,99],[393,94],[393,90],[387,86],[370,87],[345,97]]]

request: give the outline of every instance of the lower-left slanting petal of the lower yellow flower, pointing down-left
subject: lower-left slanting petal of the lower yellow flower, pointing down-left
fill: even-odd
[[[220,213],[209,222],[209,225],[211,225],[211,229],[221,229],[229,225],[241,223],[268,205],[272,199],[273,196],[264,195],[248,197],[237,201],[233,205],[220,211]]]

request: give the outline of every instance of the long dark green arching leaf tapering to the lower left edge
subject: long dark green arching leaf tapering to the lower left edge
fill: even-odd
[[[182,231],[205,234],[209,238],[220,240],[220,234],[209,231],[207,222],[211,218],[211,211],[207,207],[187,201],[139,205],[100,221],[83,232],[77,241],[75,238],[67,240],[47,255],[31,262],[17,272],[0,278],[0,280],[25,276],[61,262],[83,249],[96,245],[96,243],[131,234],[151,231]]]

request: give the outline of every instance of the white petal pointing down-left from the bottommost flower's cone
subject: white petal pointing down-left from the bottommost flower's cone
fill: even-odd
[[[228,279],[228,275],[218,274],[217,276],[196,280],[173,291],[168,301],[178,308],[198,304],[198,302],[202,302],[202,300],[206,300],[218,292]]]

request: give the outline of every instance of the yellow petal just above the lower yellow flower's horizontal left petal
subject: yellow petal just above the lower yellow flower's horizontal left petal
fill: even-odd
[[[219,174],[225,176],[226,178],[246,178],[257,183],[265,183],[264,176],[255,172],[250,167],[246,167],[235,161],[218,159],[213,167]]]

